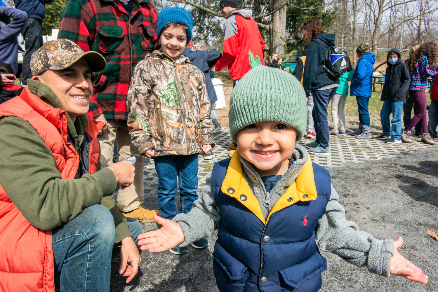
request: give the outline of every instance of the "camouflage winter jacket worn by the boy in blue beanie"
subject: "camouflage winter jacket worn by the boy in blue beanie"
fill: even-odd
[[[191,155],[204,144],[214,146],[204,73],[186,56],[174,62],[155,50],[132,76],[127,122],[140,154],[155,148],[155,157]]]

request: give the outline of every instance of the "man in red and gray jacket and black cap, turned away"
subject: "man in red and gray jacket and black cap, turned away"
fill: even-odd
[[[217,61],[217,71],[228,66],[233,87],[240,78],[251,69],[248,51],[259,56],[263,61],[265,43],[258,31],[257,23],[252,19],[252,11],[238,9],[238,0],[220,0],[220,13],[226,18],[223,25],[223,56]]]

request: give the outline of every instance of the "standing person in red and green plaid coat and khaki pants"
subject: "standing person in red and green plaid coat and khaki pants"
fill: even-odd
[[[90,116],[107,123],[99,135],[100,162],[113,161],[117,137],[117,160],[135,156],[135,179],[119,190],[117,207],[125,216],[153,222],[144,201],[143,158],[131,143],[127,127],[126,99],[135,65],[152,52],[157,40],[158,12],[151,0],[71,0],[61,13],[59,39],[76,42],[84,51],[101,53],[106,68],[94,74],[94,97]]]

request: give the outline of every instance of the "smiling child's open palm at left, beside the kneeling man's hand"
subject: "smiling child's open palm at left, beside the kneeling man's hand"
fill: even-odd
[[[137,244],[141,250],[158,253],[170,250],[184,241],[183,229],[181,229],[177,222],[161,218],[155,214],[153,218],[155,222],[163,225],[163,227],[158,230],[142,233],[137,237],[139,239]]]

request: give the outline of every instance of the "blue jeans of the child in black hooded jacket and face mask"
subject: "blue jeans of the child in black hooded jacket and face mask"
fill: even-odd
[[[401,139],[402,109],[403,109],[403,101],[383,102],[382,109],[380,111],[380,122],[382,124],[383,134],[387,136],[392,135],[392,139],[398,139],[398,140]],[[389,115],[391,113],[392,113],[392,120],[390,124]]]

